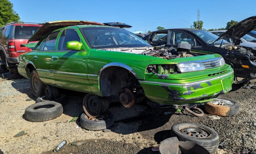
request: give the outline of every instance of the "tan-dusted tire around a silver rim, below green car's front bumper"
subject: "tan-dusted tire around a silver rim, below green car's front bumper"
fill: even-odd
[[[204,109],[206,112],[212,115],[218,115],[223,117],[234,116],[239,113],[239,103],[234,100],[226,99],[228,101],[233,102],[232,105],[225,106],[225,105],[216,105],[210,102],[204,105]]]

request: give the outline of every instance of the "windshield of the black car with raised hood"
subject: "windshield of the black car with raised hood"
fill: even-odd
[[[197,36],[199,36],[201,39],[203,39],[204,42],[206,42],[208,45],[213,44],[215,40],[219,38],[219,36],[210,33],[205,30],[191,30],[193,33],[195,33]],[[214,45],[220,45],[222,40],[218,40],[214,43]],[[223,44],[230,44],[227,41],[223,40]]]

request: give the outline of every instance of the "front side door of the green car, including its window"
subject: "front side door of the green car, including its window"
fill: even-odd
[[[66,48],[69,41],[82,42],[79,29],[62,30],[56,51],[53,54],[52,67],[55,84],[71,90],[91,91],[87,77],[88,51],[76,51]]]

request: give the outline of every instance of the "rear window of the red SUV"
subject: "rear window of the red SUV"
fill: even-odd
[[[33,26],[16,26],[14,39],[29,39],[40,27]]]

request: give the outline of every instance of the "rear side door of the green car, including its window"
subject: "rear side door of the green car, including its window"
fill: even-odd
[[[58,34],[59,31],[53,32],[43,41],[38,42],[40,45],[35,47],[32,57],[32,63],[35,65],[41,81],[53,85],[55,82],[52,73],[52,60]]]

